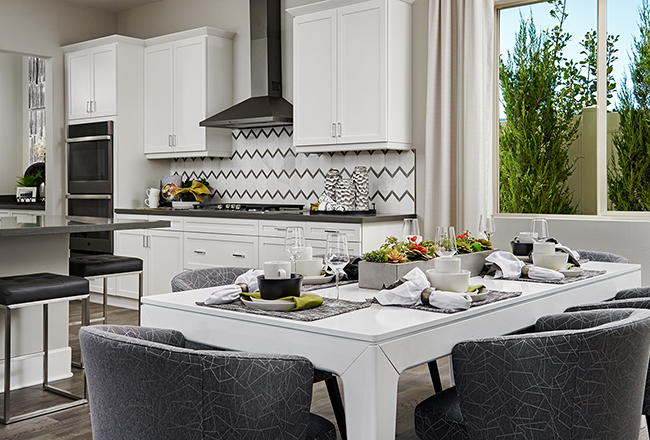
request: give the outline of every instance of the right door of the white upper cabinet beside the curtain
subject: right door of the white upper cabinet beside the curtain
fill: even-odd
[[[338,143],[386,135],[386,8],[383,1],[338,10]]]

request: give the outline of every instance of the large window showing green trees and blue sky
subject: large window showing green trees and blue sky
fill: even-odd
[[[638,55],[650,49],[650,35],[638,36],[639,26],[650,34],[650,8],[647,0],[610,0],[599,12],[599,3],[499,10],[501,213],[650,210],[650,123],[641,123],[650,119],[650,96],[640,87],[650,75],[634,68],[650,62]],[[600,48],[599,29],[607,34]]]

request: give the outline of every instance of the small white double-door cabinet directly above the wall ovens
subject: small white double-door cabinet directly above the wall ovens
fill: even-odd
[[[66,52],[68,120],[117,113],[118,44]]]

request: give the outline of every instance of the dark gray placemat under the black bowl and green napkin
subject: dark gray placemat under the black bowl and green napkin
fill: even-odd
[[[339,284],[340,285],[340,284]],[[242,304],[241,300],[229,304],[207,305],[202,302],[196,303],[199,306],[212,307],[215,309],[232,310],[241,313],[252,313],[253,315],[275,316],[276,318],[293,319],[295,321],[317,321],[329,318],[330,316],[342,313],[354,312],[355,310],[370,307],[372,300],[364,302],[348,301],[344,299],[323,298],[323,304],[313,309],[295,310],[293,312],[271,312],[267,310],[252,309]]]

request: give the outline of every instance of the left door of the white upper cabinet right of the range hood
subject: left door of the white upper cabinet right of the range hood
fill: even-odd
[[[336,143],[336,11],[294,23],[294,145]]]

